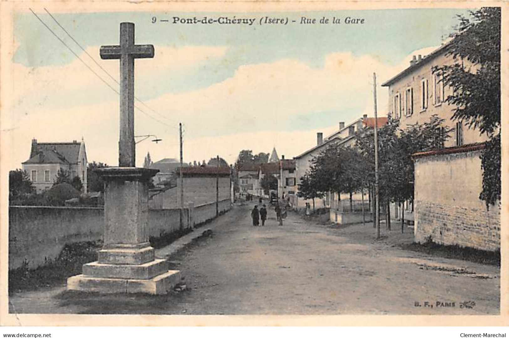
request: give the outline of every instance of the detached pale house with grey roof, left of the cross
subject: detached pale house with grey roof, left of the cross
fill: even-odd
[[[83,138],[66,143],[38,143],[32,140],[30,158],[21,163],[37,192],[51,188],[56,175],[63,169],[72,180],[79,177],[87,192],[87,151]]]

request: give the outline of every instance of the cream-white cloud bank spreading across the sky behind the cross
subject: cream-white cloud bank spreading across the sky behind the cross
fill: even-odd
[[[430,49],[412,54],[425,54]],[[186,67],[198,67],[211,58],[221,57],[226,48],[188,46],[156,50],[160,51],[157,57],[162,61],[137,61],[138,82],[143,83],[151,74],[170,68],[185,71]],[[88,51],[96,55],[98,47],[90,47]],[[343,116],[338,112],[337,116],[337,121],[347,123],[362,114],[372,116],[373,72],[377,72],[380,85],[406,68],[410,58],[411,55],[393,67],[370,55],[357,57],[348,52],[337,52],[326,55],[324,66],[318,68],[292,59],[244,65],[232,77],[207,88],[164,94],[147,104],[184,122],[185,161],[208,160],[220,155],[233,162],[242,149],[270,152],[273,146],[279,154],[291,158],[316,144],[316,132],[328,135],[337,128],[337,122],[322,130],[296,131],[288,130],[285,125],[290,118],[334,110],[349,111]],[[118,74],[118,62],[101,62],[101,65],[114,76]],[[9,150],[10,167],[20,167],[20,162],[27,159],[32,137],[41,142],[63,142],[84,136],[89,160],[117,164],[119,113],[115,94],[77,60],[62,67],[13,67],[16,109],[7,110],[10,113],[2,116],[2,129],[15,128],[2,132],[2,140],[6,141],[3,149]],[[378,90],[378,111],[382,116],[386,114],[387,91],[381,87]],[[72,109],[49,109],[44,103],[45,100],[70,101],[79,95],[90,95],[91,99]],[[146,111],[159,118],[150,110]],[[317,117],[313,115],[312,118]],[[174,124],[177,127],[177,123]],[[137,145],[138,165],[143,163],[147,151],[154,160],[178,157],[176,129],[161,125],[139,112],[136,113],[135,129],[136,134],[156,134],[163,138],[158,145],[149,140]],[[211,132],[220,136],[207,136]]]

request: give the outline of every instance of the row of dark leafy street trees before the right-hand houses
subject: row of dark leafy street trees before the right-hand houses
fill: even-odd
[[[399,128],[399,120],[388,119],[378,132],[379,191],[383,201],[413,200],[414,167],[411,155],[443,147],[452,131],[434,115],[425,124]],[[371,130],[370,130],[371,131]],[[330,146],[312,160],[301,178],[298,196],[313,200],[327,192],[347,193],[373,190],[375,143],[372,132],[357,133],[355,146]]]

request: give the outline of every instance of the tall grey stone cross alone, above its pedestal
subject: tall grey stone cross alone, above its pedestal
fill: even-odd
[[[134,143],[134,59],[153,58],[153,45],[134,44],[134,23],[120,24],[120,45],[101,46],[101,59],[120,59],[119,166],[136,166]]]

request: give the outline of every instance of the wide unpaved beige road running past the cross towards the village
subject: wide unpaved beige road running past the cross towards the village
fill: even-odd
[[[398,231],[375,241],[369,225],[337,229],[289,213],[278,227],[269,210],[266,226],[252,227],[249,215],[250,206],[236,206],[210,224],[212,236],[171,257],[172,268],[185,276],[185,291],[98,296],[61,288],[15,295],[11,308],[25,313],[264,315],[499,312],[497,267],[393,247],[394,240],[409,240]],[[444,306],[437,307],[437,301]],[[475,306],[460,308],[464,301]]]

